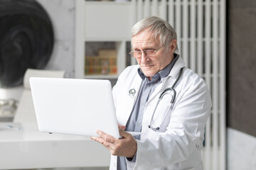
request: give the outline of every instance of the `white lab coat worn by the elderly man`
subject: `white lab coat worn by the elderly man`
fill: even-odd
[[[139,170],[203,169],[201,149],[211,99],[206,82],[191,69],[183,69],[181,79],[174,88],[176,100],[173,110],[170,110],[171,95],[165,95],[159,102],[151,125],[156,127],[164,121],[160,130],[148,128],[159,95],[174,84],[182,67],[185,67],[185,64],[179,57],[169,76],[157,86],[146,103],[141,140],[137,140],[136,162],[127,162],[128,169],[132,169],[131,165]],[[120,125],[126,125],[142,84],[142,79],[137,73],[138,68],[138,65],[127,67],[113,88],[117,121]],[[129,95],[130,89],[135,89],[134,97]],[[165,115],[167,117],[164,119]],[[110,169],[117,169],[115,156],[111,157]]]

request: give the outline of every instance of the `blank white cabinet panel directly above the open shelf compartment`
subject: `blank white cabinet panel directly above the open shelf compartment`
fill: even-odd
[[[129,2],[85,1],[85,40],[129,40],[132,28]]]

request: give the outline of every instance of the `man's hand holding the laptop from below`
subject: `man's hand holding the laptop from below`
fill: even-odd
[[[124,131],[124,126],[118,125],[118,128],[119,135],[122,136],[120,139],[107,135],[100,130],[97,130],[97,135],[100,137],[90,138],[109,149],[112,155],[133,158],[137,152],[137,142],[131,134]]]

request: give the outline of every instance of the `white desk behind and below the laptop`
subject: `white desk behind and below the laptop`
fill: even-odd
[[[39,132],[36,123],[21,130],[0,130],[0,169],[109,166],[110,152],[75,135]]]

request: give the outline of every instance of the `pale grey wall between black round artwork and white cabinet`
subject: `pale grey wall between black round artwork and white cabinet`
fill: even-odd
[[[54,47],[46,69],[64,70],[65,77],[75,74],[75,1],[37,0],[53,24]]]

